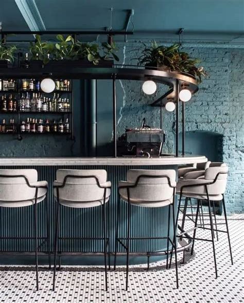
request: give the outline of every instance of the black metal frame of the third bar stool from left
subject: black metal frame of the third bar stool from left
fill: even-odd
[[[167,205],[168,206],[168,231],[167,231],[167,237],[130,237],[130,223],[131,223],[131,218],[130,218],[130,212],[131,212],[131,202],[130,202],[130,188],[135,188],[138,185],[138,182],[140,181],[141,178],[151,178],[151,179],[158,179],[158,178],[166,178],[168,180],[168,184],[171,188],[173,188],[173,197],[172,197],[172,203]],[[177,266],[177,244],[176,244],[176,224],[175,224],[175,208],[174,208],[174,202],[175,202],[175,193],[176,193],[176,187],[171,184],[169,176],[166,175],[161,175],[161,176],[152,176],[152,175],[140,175],[137,177],[135,183],[133,185],[123,185],[119,186],[118,190],[121,188],[126,188],[127,190],[127,197],[128,197],[128,211],[127,211],[127,237],[126,238],[121,238],[118,237],[118,226],[119,226],[119,218],[120,218],[120,203],[121,199],[119,196],[118,203],[117,203],[117,219],[116,219],[116,234],[115,234],[115,253],[114,253],[114,270],[116,269],[116,257],[117,257],[117,250],[118,250],[118,243],[126,250],[126,288],[125,290],[128,290],[128,278],[129,278],[129,254],[130,254],[130,240],[148,240],[148,239],[167,239],[167,251],[156,251],[156,252],[145,252],[145,253],[140,253],[140,255],[145,255],[148,258],[147,262],[147,269],[149,270],[149,258],[150,256],[153,255],[162,255],[166,254],[167,255],[167,261],[166,261],[166,269],[169,268],[171,264],[171,259],[172,259],[172,254],[173,250],[175,251],[175,258],[176,258],[176,284],[177,288],[179,287],[179,280],[178,280],[178,266]],[[170,228],[170,206],[172,206],[172,215],[173,215],[173,241],[169,237],[169,228]],[[161,206],[165,207],[165,206]],[[123,240],[126,240],[126,244],[123,243]],[[168,264],[168,255],[169,255],[169,241],[172,245],[172,250],[171,250],[171,258],[170,258],[170,264]]]

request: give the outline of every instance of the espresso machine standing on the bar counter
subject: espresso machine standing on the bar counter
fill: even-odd
[[[165,132],[161,128],[146,125],[144,118],[141,127],[126,129],[118,140],[119,156],[159,157],[165,142]]]

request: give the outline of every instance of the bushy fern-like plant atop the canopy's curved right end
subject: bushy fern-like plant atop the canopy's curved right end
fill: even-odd
[[[201,61],[191,59],[189,54],[180,51],[180,44],[171,46],[158,45],[155,41],[151,47],[145,45],[142,55],[138,58],[138,65],[161,67],[171,71],[181,71],[193,75],[198,83],[202,82],[202,77],[207,77],[207,72],[203,67],[197,67]]]

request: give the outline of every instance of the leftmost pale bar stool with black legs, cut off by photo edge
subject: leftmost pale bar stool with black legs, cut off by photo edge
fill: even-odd
[[[34,237],[1,237],[1,239],[34,239],[36,257],[36,283],[38,282],[38,250],[44,243],[47,243],[49,268],[50,259],[50,238],[49,238],[49,212],[47,200],[46,206],[46,237],[38,237],[37,204],[46,198],[47,182],[38,181],[36,169],[0,169],[0,206],[1,207],[27,207],[33,205]],[[43,240],[38,246],[38,240]]]

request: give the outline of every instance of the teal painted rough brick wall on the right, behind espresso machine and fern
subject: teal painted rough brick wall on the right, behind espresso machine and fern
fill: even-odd
[[[130,64],[138,58],[143,45],[120,45],[120,58]],[[202,65],[210,73],[199,92],[186,104],[186,131],[209,131],[223,136],[219,159],[228,163],[230,175],[226,202],[230,213],[244,212],[244,49],[211,45],[184,47],[193,57],[202,59]],[[125,127],[140,125],[143,117],[153,126],[160,125],[159,108],[148,103],[160,97],[165,87],[158,87],[151,96],[143,94],[141,85],[133,81],[119,81],[118,135]],[[173,151],[175,113],[163,116],[167,142],[165,152]],[[207,144],[207,142],[206,142]]]

